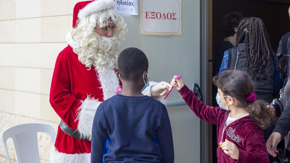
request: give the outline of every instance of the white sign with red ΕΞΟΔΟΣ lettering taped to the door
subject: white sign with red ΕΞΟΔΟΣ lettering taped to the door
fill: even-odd
[[[181,0],[141,0],[141,34],[181,35]]]

